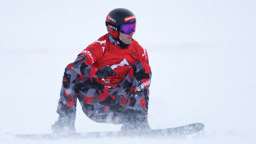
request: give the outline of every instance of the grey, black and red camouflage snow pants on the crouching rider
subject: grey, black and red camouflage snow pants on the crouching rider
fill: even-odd
[[[94,77],[78,75],[68,65],[65,69],[57,113],[70,118],[74,124],[76,100],[83,112],[95,122],[122,124],[125,109],[134,109],[147,115],[151,79],[150,66],[136,62],[116,88],[107,88]]]

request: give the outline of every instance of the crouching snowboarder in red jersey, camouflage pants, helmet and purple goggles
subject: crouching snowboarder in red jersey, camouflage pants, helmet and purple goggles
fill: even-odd
[[[148,54],[132,36],[136,17],[117,8],[106,17],[108,33],[85,48],[65,69],[53,132],[75,132],[76,100],[95,122],[121,130],[150,130]]]

